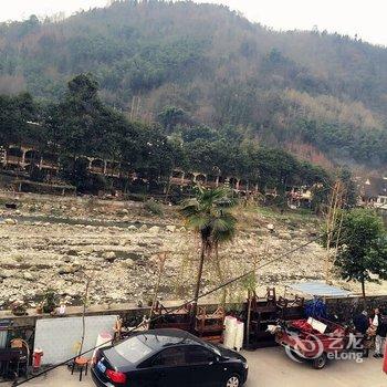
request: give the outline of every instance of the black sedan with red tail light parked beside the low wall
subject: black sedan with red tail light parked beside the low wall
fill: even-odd
[[[101,387],[240,387],[248,363],[187,332],[155,330],[98,349],[92,376]]]

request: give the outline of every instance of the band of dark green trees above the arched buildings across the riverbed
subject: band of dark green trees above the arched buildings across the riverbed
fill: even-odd
[[[283,149],[247,142],[231,127],[215,130],[188,126],[187,122],[181,125],[174,115],[184,115],[169,111],[163,113],[164,127],[130,122],[101,101],[98,83],[91,74],[81,74],[69,82],[59,102],[36,104],[25,94],[0,95],[1,140],[33,144],[41,151],[57,154],[63,177],[81,190],[103,186],[88,176],[87,156],[123,161],[148,180],[166,180],[174,168],[248,179],[261,189],[283,191],[293,185],[330,180],[323,168],[300,161]]]

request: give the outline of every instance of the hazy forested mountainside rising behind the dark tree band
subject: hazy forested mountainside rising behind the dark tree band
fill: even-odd
[[[282,146],[328,166],[387,165],[387,49],[280,33],[224,7],[116,1],[63,21],[0,24],[0,94],[60,100],[90,72],[128,117],[180,140]]]

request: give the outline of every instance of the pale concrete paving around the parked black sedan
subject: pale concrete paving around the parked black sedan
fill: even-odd
[[[360,364],[355,360],[331,362],[324,369],[316,370],[310,364],[294,363],[279,347],[244,352],[243,355],[249,359],[250,366],[250,376],[245,387],[387,386],[387,375],[381,372],[381,360],[373,357]],[[31,380],[23,386],[93,387],[93,383],[88,376],[80,383],[77,375],[72,376],[65,367],[61,367],[46,377]]]

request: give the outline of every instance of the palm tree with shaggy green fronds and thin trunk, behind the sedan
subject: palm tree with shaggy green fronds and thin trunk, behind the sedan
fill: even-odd
[[[236,233],[237,219],[229,211],[234,205],[236,200],[227,190],[221,188],[205,189],[198,186],[196,197],[186,201],[181,208],[187,226],[196,230],[201,239],[200,262],[195,289],[196,304],[206,257],[209,257],[215,250],[218,259],[219,244],[231,240]]]

